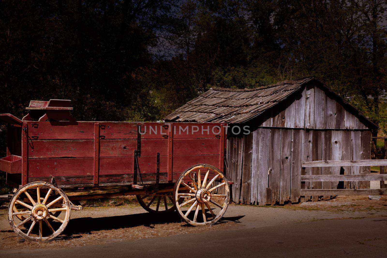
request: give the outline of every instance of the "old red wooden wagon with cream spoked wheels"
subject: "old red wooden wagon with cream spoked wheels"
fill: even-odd
[[[226,124],[75,121],[70,101],[56,99],[31,101],[27,109],[22,120],[0,114],[7,123],[0,170],[15,188],[9,222],[24,239],[58,236],[71,210],[82,209],[73,202],[91,198],[136,195],[147,211],[177,210],[193,226],[213,224],[226,212]],[[108,186],[125,190],[64,191]]]

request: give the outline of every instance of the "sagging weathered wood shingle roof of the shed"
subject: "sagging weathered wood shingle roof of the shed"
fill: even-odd
[[[284,101],[289,95],[301,89],[311,80],[319,82],[325,90],[334,94],[336,99],[344,106],[352,109],[354,113],[363,116],[359,110],[351,106],[351,104],[333,92],[320,80],[310,76],[295,80],[285,80],[257,89],[211,88],[196,99],[176,109],[175,112],[166,116],[164,120],[199,123],[243,123]],[[363,118],[365,117],[363,116]],[[369,122],[369,127],[377,127],[367,118],[365,120]]]

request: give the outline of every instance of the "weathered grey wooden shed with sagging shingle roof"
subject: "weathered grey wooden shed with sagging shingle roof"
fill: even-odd
[[[301,161],[370,159],[377,128],[315,77],[257,89],[211,88],[165,121],[228,123],[225,171],[235,182],[236,203],[283,204],[304,198],[300,189],[370,187],[369,181],[301,182],[301,174],[369,174],[370,167],[301,169]],[[305,196],[318,198],[330,196]]]

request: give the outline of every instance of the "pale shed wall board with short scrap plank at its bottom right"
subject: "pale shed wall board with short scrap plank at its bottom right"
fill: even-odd
[[[259,166],[258,166],[258,204],[266,204],[266,188],[269,184],[269,144],[270,129],[261,128],[259,135]]]

